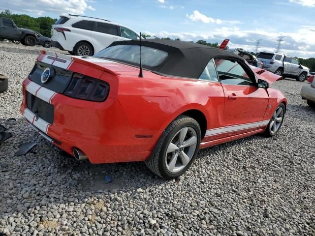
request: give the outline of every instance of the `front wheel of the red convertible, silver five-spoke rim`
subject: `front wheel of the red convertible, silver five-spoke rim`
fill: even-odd
[[[272,118],[270,119],[269,124],[264,131],[264,135],[272,137],[279,132],[281,125],[284,122],[284,114],[285,106],[283,103],[281,103],[272,115]]]

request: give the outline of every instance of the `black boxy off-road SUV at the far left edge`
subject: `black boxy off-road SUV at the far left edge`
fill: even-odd
[[[34,31],[18,28],[13,20],[3,17],[0,17],[0,38],[17,40],[27,46],[36,45],[36,33]]]

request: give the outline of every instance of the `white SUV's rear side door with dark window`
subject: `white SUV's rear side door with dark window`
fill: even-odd
[[[92,39],[95,45],[95,53],[107,48],[112,42],[121,40],[119,27],[117,25],[95,22],[95,29],[92,31]]]

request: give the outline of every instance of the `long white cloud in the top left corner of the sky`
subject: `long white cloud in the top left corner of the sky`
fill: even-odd
[[[1,5],[0,0],[0,5]],[[86,10],[95,8],[88,5],[87,2],[95,2],[94,0],[10,0],[5,2],[5,9],[15,12],[31,12],[43,15],[45,12],[61,14],[84,14]],[[0,7],[2,8],[2,7]]]

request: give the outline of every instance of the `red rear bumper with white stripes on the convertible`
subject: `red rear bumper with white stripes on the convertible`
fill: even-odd
[[[33,92],[29,79],[24,88]],[[45,89],[45,88],[44,88]],[[24,92],[25,94],[25,92]],[[41,89],[35,91],[41,96]],[[45,90],[45,94],[47,91]],[[47,123],[27,108],[23,99],[21,113],[34,128],[57,147],[73,155],[82,150],[91,163],[144,161],[154,148],[161,131],[133,129],[117,99],[90,102],[52,92],[45,98],[54,106],[54,121]],[[152,138],[136,138],[136,134],[152,134]]]

